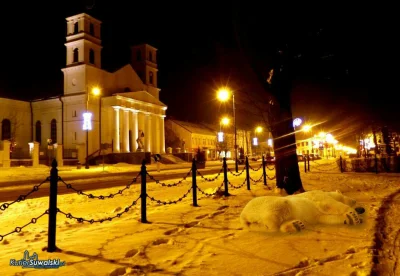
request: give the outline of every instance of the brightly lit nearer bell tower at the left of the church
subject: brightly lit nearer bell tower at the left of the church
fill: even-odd
[[[67,60],[64,72],[64,95],[87,90],[88,70],[101,70],[101,21],[81,13],[66,18]],[[89,67],[89,68],[88,68]],[[90,70],[93,71],[93,70]]]

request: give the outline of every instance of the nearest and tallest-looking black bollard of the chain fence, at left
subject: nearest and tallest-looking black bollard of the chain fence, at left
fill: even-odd
[[[49,199],[49,236],[47,241],[47,252],[55,252],[56,247],[56,224],[57,224],[57,161],[53,159],[50,170],[50,199]]]

